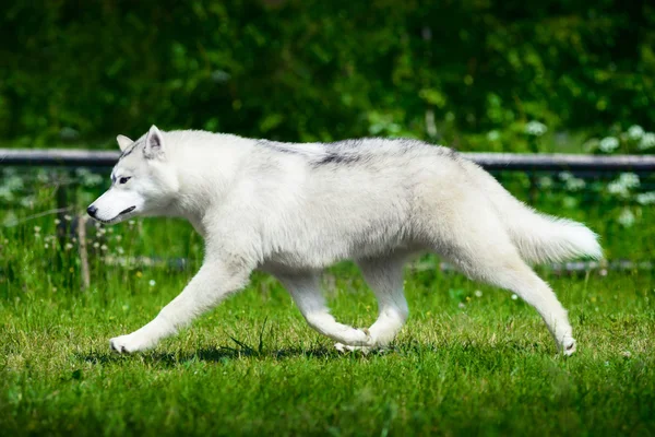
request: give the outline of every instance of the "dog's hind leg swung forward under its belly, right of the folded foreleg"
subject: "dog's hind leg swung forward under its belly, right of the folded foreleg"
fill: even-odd
[[[404,261],[404,257],[357,261],[364,279],[378,298],[378,320],[369,328],[373,345],[366,347],[337,343],[335,344],[337,350],[366,352],[370,349],[384,347],[393,341],[409,315],[403,293]]]

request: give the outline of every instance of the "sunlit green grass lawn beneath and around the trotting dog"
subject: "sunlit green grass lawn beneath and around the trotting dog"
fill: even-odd
[[[646,258],[643,226],[617,228],[606,247]],[[440,272],[433,258],[407,270],[410,319],[384,354],[335,352],[275,280],[255,274],[156,350],[119,356],[108,339],[180,292],[202,241],[172,221],[92,232],[92,287],[82,292],[76,243],[55,234],[52,217],[0,227],[2,435],[655,435],[652,271],[539,270],[570,309],[570,358],[532,308]],[[119,251],[192,262],[104,263],[100,255]],[[324,286],[337,319],[373,321],[374,299],[352,264],[326,272]]]

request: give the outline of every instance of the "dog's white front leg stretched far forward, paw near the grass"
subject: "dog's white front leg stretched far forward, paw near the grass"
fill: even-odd
[[[131,353],[154,347],[160,340],[175,334],[179,328],[216,306],[225,296],[242,288],[252,270],[246,264],[205,260],[182,293],[165,306],[154,320],[131,334],[111,339],[111,349],[118,353]]]

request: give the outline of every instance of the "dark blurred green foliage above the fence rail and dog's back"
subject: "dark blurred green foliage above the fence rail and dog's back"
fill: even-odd
[[[157,123],[528,151],[533,120],[552,134],[655,125],[646,0],[7,0],[0,28],[14,144]]]

